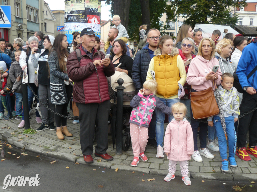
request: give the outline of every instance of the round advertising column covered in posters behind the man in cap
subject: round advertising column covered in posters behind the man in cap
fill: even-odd
[[[101,1],[100,0],[65,0],[64,34],[68,42],[72,42],[72,33],[81,32],[84,28],[92,28],[99,38]]]

